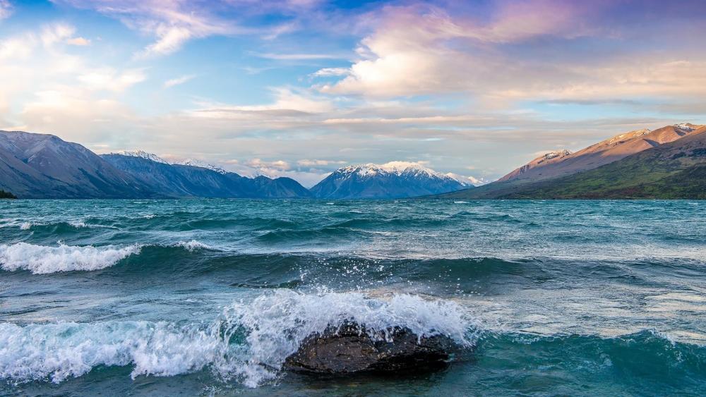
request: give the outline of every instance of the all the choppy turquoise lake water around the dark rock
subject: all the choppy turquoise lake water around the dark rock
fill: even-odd
[[[0,394],[706,394],[706,203],[0,201]],[[281,371],[345,319],[431,374]]]

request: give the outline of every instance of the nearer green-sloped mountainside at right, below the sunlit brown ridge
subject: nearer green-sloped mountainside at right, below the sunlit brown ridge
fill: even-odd
[[[643,135],[652,138],[650,142],[632,138],[628,141],[630,149],[645,143],[649,147],[587,171],[538,181],[498,181],[475,190],[462,190],[439,197],[703,199],[706,198],[706,127],[685,127],[669,126]],[[671,140],[674,134],[678,138]]]

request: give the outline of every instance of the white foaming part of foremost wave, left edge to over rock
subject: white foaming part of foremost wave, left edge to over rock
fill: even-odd
[[[417,295],[382,300],[362,293],[277,290],[230,305],[210,324],[0,324],[0,378],[59,383],[98,366],[132,365],[133,379],[210,369],[224,381],[256,387],[276,379],[307,336],[351,320],[364,324],[373,338],[402,326],[419,336],[443,334],[460,346],[474,342],[469,321],[452,302]]]

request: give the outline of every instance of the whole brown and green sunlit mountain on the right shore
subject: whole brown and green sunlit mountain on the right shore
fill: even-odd
[[[706,126],[622,133],[572,153],[544,154],[448,199],[706,198]]]

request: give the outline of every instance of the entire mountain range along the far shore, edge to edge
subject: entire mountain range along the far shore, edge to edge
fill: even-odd
[[[197,159],[97,155],[54,135],[0,131],[0,190],[20,198],[706,198],[706,126],[633,130],[578,152],[549,152],[479,187],[392,161],[342,167],[310,190],[292,178],[245,177]]]

